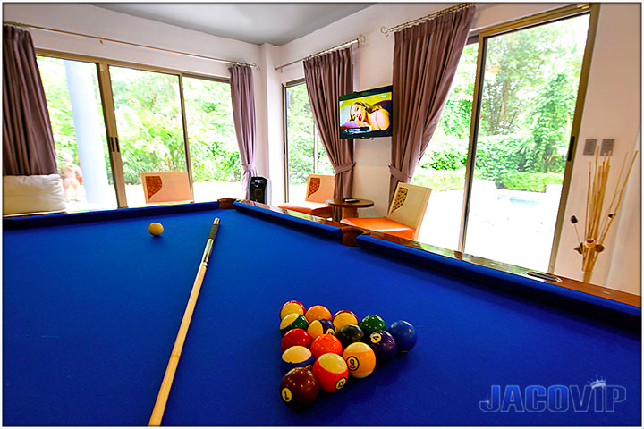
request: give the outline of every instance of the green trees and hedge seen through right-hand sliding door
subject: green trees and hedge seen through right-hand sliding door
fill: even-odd
[[[587,27],[580,17],[489,39],[475,178],[539,192],[563,181]],[[414,183],[462,189],[478,49],[465,47]]]

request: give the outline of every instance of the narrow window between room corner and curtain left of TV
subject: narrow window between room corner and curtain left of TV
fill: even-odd
[[[304,201],[309,174],[334,174],[316,130],[306,84],[284,88],[286,200]]]

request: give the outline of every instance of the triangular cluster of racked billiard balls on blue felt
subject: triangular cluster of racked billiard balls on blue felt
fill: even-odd
[[[324,306],[307,309],[288,301],[280,309],[282,361],[280,396],[291,408],[307,408],[319,390],[339,391],[349,376],[364,378],[416,344],[407,321],[387,325],[378,315],[359,321],[349,310],[331,315]]]

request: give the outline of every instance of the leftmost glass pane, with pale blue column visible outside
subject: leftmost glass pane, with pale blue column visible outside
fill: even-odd
[[[38,56],[68,212],[116,208],[97,66]]]

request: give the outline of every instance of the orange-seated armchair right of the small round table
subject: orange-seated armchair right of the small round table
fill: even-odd
[[[386,217],[349,217],[340,223],[417,240],[431,190],[409,183],[398,183]]]

